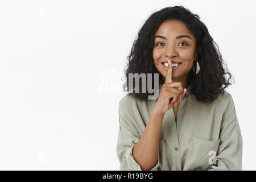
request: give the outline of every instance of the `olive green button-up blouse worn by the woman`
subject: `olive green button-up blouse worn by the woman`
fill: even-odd
[[[181,98],[177,122],[173,108],[164,114],[158,162],[151,170],[242,170],[242,136],[232,96],[224,91],[205,104],[190,89]],[[119,101],[120,170],[142,170],[133,158],[133,147],[155,104],[156,100],[140,101],[130,94]]]

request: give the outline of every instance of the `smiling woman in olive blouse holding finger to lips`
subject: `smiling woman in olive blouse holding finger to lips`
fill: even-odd
[[[129,73],[159,73],[160,92],[156,100],[147,90],[119,101],[121,170],[242,170],[241,130],[224,90],[232,75],[216,46],[199,16],[183,6],[146,20],[128,57],[125,85],[133,82]]]

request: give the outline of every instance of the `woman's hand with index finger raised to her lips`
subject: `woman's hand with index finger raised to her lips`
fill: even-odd
[[[172,82],[172,62],[168,60],[168,70],[166,80],[162,85],[158,101],[154,107],[154,112],[165,114],[167,110],[175,106],[180,98],[185,95],[187,89],[183,88],[181,82]]]

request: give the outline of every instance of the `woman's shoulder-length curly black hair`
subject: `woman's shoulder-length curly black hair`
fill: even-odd
[[[155,68],[152,50],[154,48],[154,36],[160,24],[165,20],[179,20],[185,24],[191,34],[196,38],[197,61],[200,65],[200,72],[195,74],[193,69],[188,75],[188,85],[191,85],[191,93],[200,102],[212,102],[219,94],[224,93],[224,89],[232,83],[233,76],[228,72],[224,60],[217,44],[210,36],[207,27],[200,21],[199,15],[191,13],[183,6],[165,7],[155,13],[143,24],[138,32],[137,39],[134,40],[130,55],[127,56],[127,68],[125,69],[126,81],[123,90],[130,92],[140,100],[147,100],[148,92],[134,93],[134,86],[129,90],[129,73],[153,73],[152,82],[154,85],[154,73],[159,73]],[[228,75],[228,78],[225,75]],[[141,80],[141,79],[140,79]],[[141,82],[141,81],[140,81]],[[159,84],[163,84],[162,75],[159,73]],[[142,84],[139,84],[140,87]],[[132,90],[131,90],[132,89]]]

